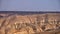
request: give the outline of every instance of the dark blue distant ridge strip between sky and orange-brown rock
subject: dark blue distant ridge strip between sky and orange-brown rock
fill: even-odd
[[[0,11],[0,13],[14,13],[14,14],[44,14],[44,13],[60,13],[60,11]]]

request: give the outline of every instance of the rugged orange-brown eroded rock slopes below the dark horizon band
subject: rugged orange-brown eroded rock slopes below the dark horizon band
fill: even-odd
[[[36,34],[60,29],[60,15],[47,14],[0,14],[1,34]]]

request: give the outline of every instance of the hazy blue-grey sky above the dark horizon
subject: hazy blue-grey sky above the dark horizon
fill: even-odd
[[[3,11],[60,10],[59,0],[0,0]]]

